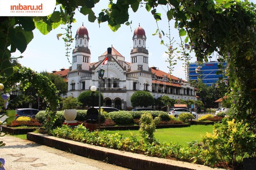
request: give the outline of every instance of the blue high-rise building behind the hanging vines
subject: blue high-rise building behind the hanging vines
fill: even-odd
[[[203,79],[203,83],[210,86],[215,84],[219,77],[223,77],[222,74],[216,74],[220,68],[218,67],[219,62],[211,61],[209,63],[203,63],[200,68],[200,72],[196,73],[196,68],[198,63],[189,63],[188,64],[188,79],[197,80],[197,78]],[[227,63],[223,63],[225,67]]]

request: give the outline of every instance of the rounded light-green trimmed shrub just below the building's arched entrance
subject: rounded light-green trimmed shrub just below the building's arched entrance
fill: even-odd
[[[132,114],[127,113],[127,111],[111,112],[110,117],[115,123],[132,123],[133,122]]]

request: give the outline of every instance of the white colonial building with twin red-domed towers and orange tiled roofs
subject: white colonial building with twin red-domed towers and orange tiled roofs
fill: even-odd
[[[77,29],[76,46],[73,49],[72,66],[69,69],[53,72],[67,75],[68,96],[78,97],[90,90],[92,85],[101,87],[104,106],[127,109],[132,107],[131,96],[136,91],[151,92],[154,98],[167,95],[172,99],[194,99],[194,90],[190,84],[180,78],[165,73],[155,66],[148,67],[148,50],[146,34],[142,27],[135,29],[132,40],[130,63],[125,61],[114,47],[98,57],[99,61],[91,63],[91,52],[88,48],[89,35],[84,26]],[[103,61],[107,59],[107,64]],[[105,62],[104,62],[105,63]],[[105,70],[103,79],[98,78],[98,70]],[[62,72],[65,72],[62,74]],[[195,94],[195,100],[197,100]]]

